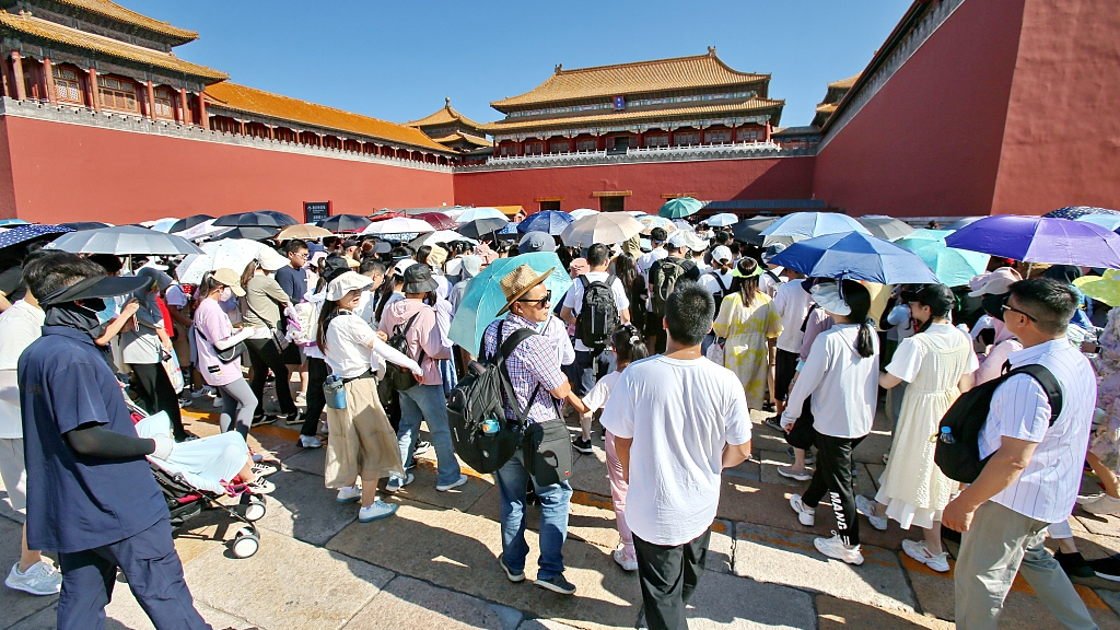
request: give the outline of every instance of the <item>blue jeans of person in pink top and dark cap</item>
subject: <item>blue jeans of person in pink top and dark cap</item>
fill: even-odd
[[[428,420],[431,445],[436,447],[439,475],[437,485],[447,485],[459,480],[459,461],[455,458],[451,445],[451,429],[447,420],[447,398],[441,385],[418,385],[398,391],[401,400],[401,427],[396,429],[396,443],[401,448],[401,462],[412,465],[412,451],[420,435],[420,420]]]

